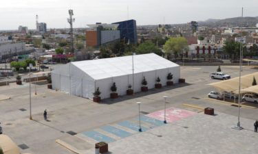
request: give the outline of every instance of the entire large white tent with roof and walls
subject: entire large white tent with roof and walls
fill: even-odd
[[[139,92],[143,77],[149,89],[154,88],[157,77],[165,86],[168,73],[172,73],[173,82],[178,83],[180,66],[155,53],[149,53],[70,62],[56,67],[51,74],[52,88],[55,90],[93,99],[93,92],[99,87],[101,99],[106,99],[110,97],[110,88],[114,82],[118,95],[125,95],[129,84],[135,92]]]

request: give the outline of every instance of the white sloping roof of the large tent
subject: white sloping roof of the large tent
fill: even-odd
[[[72,62],[72,65],[78,67],[93,79],[105,79],[109,77],[132,74],[132,58],[134,73],[178,66],[178,64],[166,60],[155,53],[133,55],[133,57],[132,55],[129,55],[100,60],[85,60],[80,62]]]

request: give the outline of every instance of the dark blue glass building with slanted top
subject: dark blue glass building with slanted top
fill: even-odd
[[[130,42],[136,44],[138,42],[136,33],[136,21],[120,21],[114,24],[119,24],[118,30],[120,30],[120,39],[125,40],[125,42]]]

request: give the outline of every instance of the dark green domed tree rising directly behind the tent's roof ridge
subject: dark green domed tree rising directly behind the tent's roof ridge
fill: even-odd
[[[150,40],[145,41],[144,43],[140,44],[136,48],[136,53],[144,54],[144,53],[155,53],[157,55],[162,55],[162,51]]]

